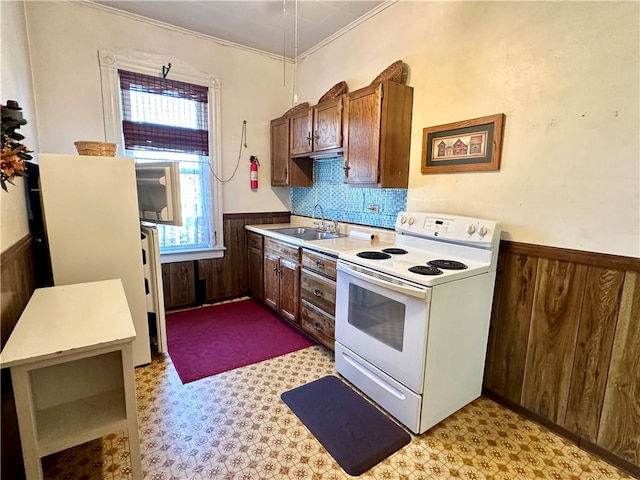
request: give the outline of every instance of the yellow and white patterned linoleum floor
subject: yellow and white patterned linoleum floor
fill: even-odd
[[[146,480],[338,480],[350,477],[280,399],[336,374],[313,346],[183,385],[168,356],[136,369]],[[44,459],[49,480],[131,478],[124,432]],[[363,480],[631,479],[561,437],[481,397]]]

